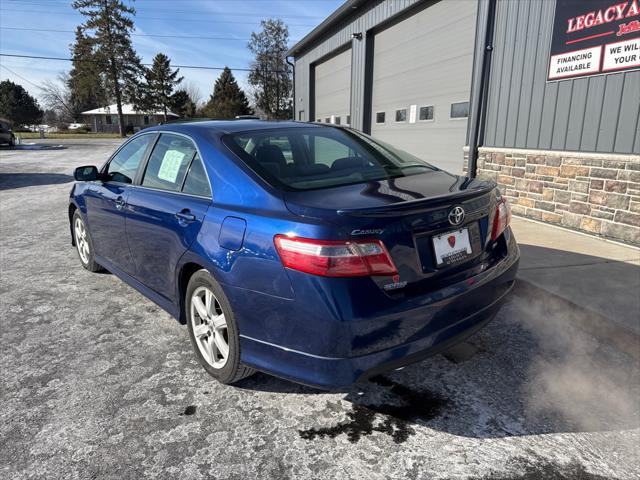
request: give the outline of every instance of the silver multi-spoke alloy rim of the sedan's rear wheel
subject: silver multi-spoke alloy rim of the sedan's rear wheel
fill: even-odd
[[[213,368],[224,367],[229,358],[227,321],[220,302],[207,287],[191,296],[191,327],[200,353]]]

